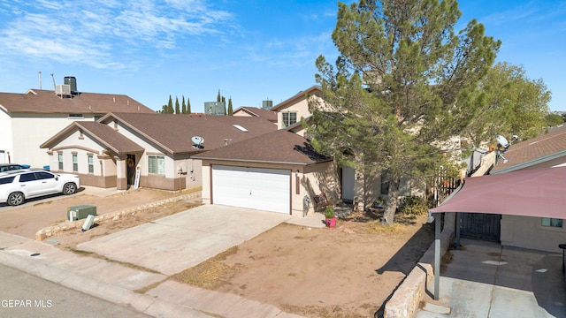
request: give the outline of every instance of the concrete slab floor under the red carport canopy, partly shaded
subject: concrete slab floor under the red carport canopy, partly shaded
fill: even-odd
[[[450,254],[440,301],[424,299],[418,318],[566,317],[562,254],[470,239]]]

